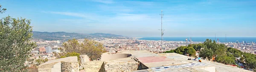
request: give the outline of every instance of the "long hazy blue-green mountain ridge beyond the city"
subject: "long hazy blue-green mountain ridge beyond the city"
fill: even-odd
[[[38,32],[33,31],[34,39],[44,39],[44,40],[67,40],[67,39],[84,39],[84,38],[97,38],[97,37],[123,37],[120,35],[110,34],[110,33],[66,33],[66,32]]]

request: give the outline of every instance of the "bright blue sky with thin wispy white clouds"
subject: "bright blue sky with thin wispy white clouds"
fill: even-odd
[[[256,0],[0,0],[0,17],[32,20],[34,31],[131,37],[256,36]]]

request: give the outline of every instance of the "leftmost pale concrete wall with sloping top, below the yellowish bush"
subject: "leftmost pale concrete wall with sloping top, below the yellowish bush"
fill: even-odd
[[[47,61],[44,64],[38,66],[38,72],[61,72],[61,61],[64,62],[78,62],[76,56],[59,58],[51,61]]]

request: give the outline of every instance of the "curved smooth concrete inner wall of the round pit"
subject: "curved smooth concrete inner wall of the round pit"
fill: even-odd
[[[109,60],[114,60],[118,58],[127,58],[130,57],[131,54],[108,54],[108,53],[103,53],[101,55],[101,61],[109,61]]]

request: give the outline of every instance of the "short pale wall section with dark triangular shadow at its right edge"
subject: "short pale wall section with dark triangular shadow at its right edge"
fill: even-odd
[[[85,72],[105,72],[104,61],[88,61],[84,63],[84,71]],[[102,69],[103,68],[103,69]]]

